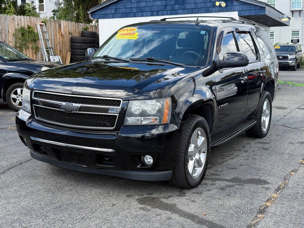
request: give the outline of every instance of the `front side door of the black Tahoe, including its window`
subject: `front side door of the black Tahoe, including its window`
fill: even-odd
[[[223,37],[219,59],[228,52],[240,51],[234,32]],[[214,72],[216,81],[217,120],[215,133],[240,122],[247,105],[247,72],[245,67],[224,68],[223,73]]]

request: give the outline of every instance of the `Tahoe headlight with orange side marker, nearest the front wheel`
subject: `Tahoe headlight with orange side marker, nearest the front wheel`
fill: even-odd
[[[124,125],[157,125],[170,123],[171,98],[130,101]]]

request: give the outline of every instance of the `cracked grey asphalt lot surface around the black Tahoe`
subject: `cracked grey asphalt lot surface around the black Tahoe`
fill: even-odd
[[[280,71],[304,84],[304,70]],[[304,227],[304,87],[279,85],[263,139],[212,148],[194,189],[32,159],[0,102],[0,227]]]

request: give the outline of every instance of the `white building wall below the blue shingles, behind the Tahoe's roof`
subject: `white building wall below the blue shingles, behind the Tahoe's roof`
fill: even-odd
[[[248,20],[238,16],[237,11],[230,12],[216,12],[216,13],[199,13],[199,14],[183,14],[183,15],[166,15],[166,16],[150,16],[150,17],[128,17],[128,18],[109,18],[109,19],[98,19],[99,22],[99,43],[102,44],[107,40],[113,33],[119,28],[138,22],[146,22],[151,20],[159,20],[165,17],[185,17],[185,16],[225,16],[234,17],[235,19]],[[185,18],[195,19],[195,18]],[[171,19],[180,20],[180,19]],[[259,24],[269,32],[269,27]]]

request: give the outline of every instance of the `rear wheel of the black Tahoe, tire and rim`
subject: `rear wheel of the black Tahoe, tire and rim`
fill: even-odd
[[[269,92],[264,91],[257,113],[254,118],[257,123],[246,131],[247,136],[264,138],[269,131],[272,113],[272,99]]]

